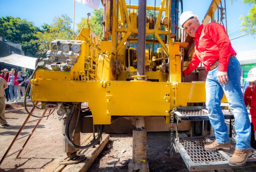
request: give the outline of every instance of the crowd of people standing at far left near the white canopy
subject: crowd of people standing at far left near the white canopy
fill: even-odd
[[[5,99],[7,102],[18,102],[17,99],[24,97],[29,82],[29,76],[23,75],[22,71],[12,68],[1,70],[0,73],[0,124],[9,127],[5,118]],[[28,92],[28,98],[30,97]]]

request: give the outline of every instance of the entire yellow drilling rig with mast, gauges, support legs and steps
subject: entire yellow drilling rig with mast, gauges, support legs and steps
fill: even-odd
[[[203,24],[214,21],[220,3],[212,0]],[[149,171],[146,131],[171,131],[170,154],[180,152],[190,171],[230,168],[231,153],[209,152],[202,146],[213,139],[205,108],[206,71],[198,67],[182,77],[195,45],[179,31],[182,8],[182,0],[161,0],[160,6],[147,6],[146,0],[138,0],[138,5],[104,0],[103,39],[88,23],[72,40],[46,43],[46,58],[39,59],[30,80],[31,99],[42,108],[59,108],[68,157],[97,144],[102,132],[133,131],[136,146],[129,171]],[[147,10],[157,11],[157,16],[146,16]],[[227,102],[225,97],[222,101]],[[232,137],[232,112],[223,106],[223,113]],[[81,146],[80,132],[93,132],[94,127],[98,137]],[[187,130],[189,137],[178,132]],[[252,164],[248,160],[246,165]]]

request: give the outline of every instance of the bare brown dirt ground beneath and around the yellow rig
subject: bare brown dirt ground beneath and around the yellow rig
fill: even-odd
[[[6,110],[22,108],[22,105],[9,105]],[[41,115],[42,110],[36,110],[35,114]],[[10,127],[0,128],[0,157],[4,155],[8,146],[15,137],[17,131],[27,117],[25,110],[6,113],[6,119]],[[7,157],[0,171],[38,172],[44,169],[54,159],[63,155],[61,122],[57,113],[43,119],[32,138],[29,140],[20,158],[15,159],[16,154]],[[34,118],[30,118],[32,120]],[[21,135],[31,132],[35,122],[24,127]],[[124,172],[128,171],[128,163],[132,158],[132,133],[109,133],[110,141],[94,161],[89,172]],[[81,137],[83,137],[82,134]],[[18,140],[12,151],[22,147],[24,139]],[[182,157],[177,153],[173,158],[168,156],[170,146],[169,132],[147,133],[147,161],[150,171],[188,171]],[[12,152],[11,151],[11,152]],[[237,168],[229,171],[256,171],[256,168]]]

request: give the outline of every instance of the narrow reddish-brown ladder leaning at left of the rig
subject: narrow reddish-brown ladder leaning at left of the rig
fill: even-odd
[[[36,102],[36,105],[37,105],[38,103],[39,103],[39,102]],[[36,107],[33,106],[33,108],[32,108],[31,111],[30,111],[31,114],[34,112],[35,108],[36,108]],[[45,115],[46,111],[47,111],[47,109],[44,110],[44,113],[42,114],[42,116]],[[14,137],[14,139],[13,139],[12,143],[10,144],[9,148],[7,149],[7,151],[5,152],[4,156],[2,157],[2,159],[1,159],[1,161],[0,161],[0,166],[1,166],[2,162],[4,161],[4,159],[5,159],[6,157],[11,156],[11,155],[15,154],[16,152],[19,152],[18,155],[16,156],[16,158],[19,157],[19,155],[21,154],[21,152],[24,150],[26,144],[28,143],[29,139],[31,138],[32,134],[35,132],[37,126],[39,125],[39,123],[40,123],[41,120],[42,120],[42,118],[37,118],[37,119],[34,119],[34,120],[30,120],[30,121],[29,121],[29,118],[30,118],[30,115],[27,116],[26,120],[24,121],[23,125],[20,127],[18,133],[17,133],[16,136]],[[37,123],[36,123],[35,127],[33,128],[33,130],[32,130],[30,133],[27,133],[27,134],[25,134],[25,135],[23,135],[23,136],[19,136],[19,134],[21,133],[21,131],[23,130],[23,128],[25,127],[25,125],[28,124],[28,123],[30,123],[30,122],[34,122],[34,121],[37,121]],[[12,148],[12,146],[14,145],[14,143],[15,143],[17,140],[22,139],[22,138],[27,137],[27,136],[28,136],[28,138],[26,139],[26,141],[25,141],[25,143],[23,144],[22,148],[19,148],[19,149],[15,150],[15,151],[9,153],[10,149]]]

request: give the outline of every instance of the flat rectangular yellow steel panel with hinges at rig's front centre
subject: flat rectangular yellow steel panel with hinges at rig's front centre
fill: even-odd
[[[170,109],[170,83],[108,81],[106,90],[107,115],[128,116],[166,116]],[[135,89],[136,88],[136,89]],[[154,94],[152,94],[152,89]],[[120,92],[120,90],[122,90]],[[122,94],[120,94],[122,93]],[[132,95],[132,96],[124,96]],[[152,102],[152,100],[154,100]],[[122,103],[120,103],[122,102]],[[152,108],[152,103],[154,107]],[[124,108],[124,105],[127,108]]]

